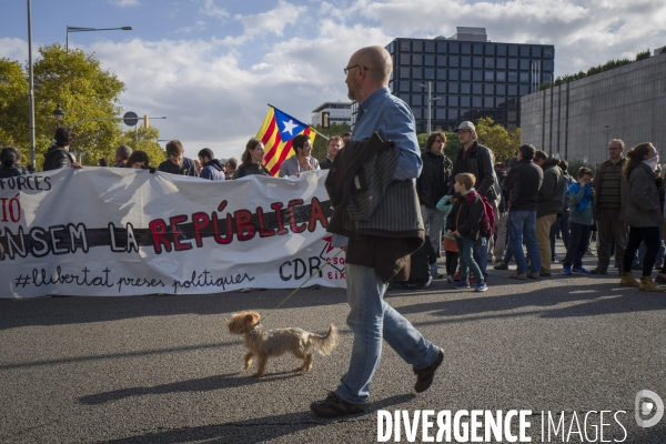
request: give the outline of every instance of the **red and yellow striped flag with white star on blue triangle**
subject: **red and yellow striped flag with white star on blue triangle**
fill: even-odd
[[[310,134],[314,143],[315,132],[312,127],[269,105],[269,113],[256,133],[256,139],[264,144],[264,164],[271,175],[278,175],[282,161],[294,153],[291,143],[299,134]]]

